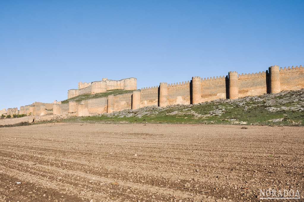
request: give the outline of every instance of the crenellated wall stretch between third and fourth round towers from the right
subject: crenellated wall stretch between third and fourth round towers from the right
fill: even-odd
[[[168,85],[168,105],[190,104],[190,82]]]

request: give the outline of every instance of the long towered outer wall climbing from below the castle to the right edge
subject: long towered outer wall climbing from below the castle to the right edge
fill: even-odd
[[[135,110],[145,106],[196,104],[215,99],[237,99],[302,88],[304,88],[302,66],[292,68],[271,66],[267,71],[258,73],[238,74],[236,71],[230,71],[226,76],[204,79],[196,76],[192,77],[191,81],[171,84],[161,82],[158,86],[134,90],[132,93],[88,99],[79,104],[70,101],[72,110],[69,111],[76,116],[92,116],[125,109]]]

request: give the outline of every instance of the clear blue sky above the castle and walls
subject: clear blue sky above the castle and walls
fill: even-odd
[[[304,64],[304,1],[0,0],[0,109],[78,82],[137,87]]]

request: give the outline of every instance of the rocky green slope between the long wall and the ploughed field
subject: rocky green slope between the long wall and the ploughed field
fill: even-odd
[[[185,123],[244,125],[304,125],[304,90],[236,100],[215,100],[199,105],[175,105],[124,110],[93,117],[76,117],[64,122],[86,123]],[[276,111],[270,111],[269,108]],[[302,111],[301,111],[302,110]],[[142,115],[148,112],[149,114]],[[273,119],[282,119],[274,122]]]

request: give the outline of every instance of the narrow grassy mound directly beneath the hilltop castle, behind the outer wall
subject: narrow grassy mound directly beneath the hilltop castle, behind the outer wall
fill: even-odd
[[[133,90],[108,90],[107,92],[102,92],[102,93],[97,93],[94,95],[91,94],[83,94],[79,96],[72,97],[70,99],[66,99],[61,101],[62,104],[69,103],[71,100],[75,100],[77,103],[80,103],[83,100],[86,99],[96,99],[96,98],[101,98],[101,97],[107,97],[109,95],[118,95],[118,94],[123,94],[123,93],[128,93],[128,92],[133,92]]]

